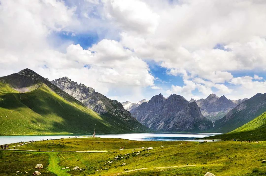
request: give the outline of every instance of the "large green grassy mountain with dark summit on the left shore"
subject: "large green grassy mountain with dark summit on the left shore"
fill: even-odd
[[[99,115],[25,69],[0,78],[0,135],[146,132],[136,119]]]

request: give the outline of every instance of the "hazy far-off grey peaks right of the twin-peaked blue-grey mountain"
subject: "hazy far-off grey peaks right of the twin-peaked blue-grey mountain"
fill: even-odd
[[[229,100],[225,96],[218,97],[215,94],[210,94],[206,99],[194,100],[200,107],[201,113],[211,121],[223,118],[231,109],[235,108],[238,104],[247,100]]]

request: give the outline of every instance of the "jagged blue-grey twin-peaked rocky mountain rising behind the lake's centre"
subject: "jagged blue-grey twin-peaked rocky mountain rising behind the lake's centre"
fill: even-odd
[[[203,131],[213,126],[205,118],[196,102],[188,102],[184,97],[173,94],[164,98],[159,94],[148,102],[130,111],[143,125],[163,132]]]

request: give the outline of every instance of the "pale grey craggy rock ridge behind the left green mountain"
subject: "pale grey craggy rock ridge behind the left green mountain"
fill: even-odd
[[[120,102],[110,100],[106,96],[95,92],[91,87],[81,83],[78,84],[67,77],[52,80],[51,83],[99,114],[109,113],[126,121],[136,121]]]

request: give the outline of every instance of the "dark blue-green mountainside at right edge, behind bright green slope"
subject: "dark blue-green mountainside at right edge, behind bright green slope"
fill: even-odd
[[[266,111],[266,93],[257,93],[230,110],[223,118],[214,122],[210,131],[230,132],[250,122]]]

